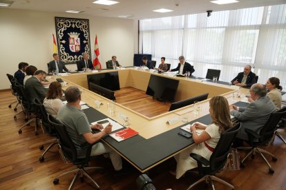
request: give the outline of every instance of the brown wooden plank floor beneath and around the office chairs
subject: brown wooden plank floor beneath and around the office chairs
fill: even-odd
[[[117,93],[119,101],[120,96],[124,95]],[[44,162],[39,162],[39,156],[43,152],[39,150],[39,145],[50,138],[44,136],[40,130],[39,135],[35,136],[32,126],[24,128],[23,133],[18,134],[19,127],[25,123],[24,116],[19,114],[17,121],[13,119],[13,116],[21,108],[19,106],[17,112],[8,108],[9,103],[15,101],[15,97],[10,92],[0,92],[0,97],[0,189],[68,189],[73,175],[61,178],[57,185],[53,184],[53,179],[64,171],[75,167],[66,165],[61,160],[56,147],[46,154]],[[131,105],[132,103],[129,106]],[[142,107],[146,106],[142,104]],[[155,107],[158,105],[154,104],[148,107],[156,109]],[[282,133],[286,137],[286,132],[282,131]],[[274,174],[268,174],[267,165],[259,156],[256,156],[254,160],[247,160],[245,169],[223,171],[218,177],[234,184],[236,189],[286,189],[286,145],[276,138],[274,145],[267,150],[278,158],[277,162],[270,161],[275,170]],[[243,155],[242,152],[241,156]],[[268,156],[267,159],[271,160]],[[101,189],[138,189],[135,180],[140,173],[130,165],[124,163],[124,167],[128,167],[131,173],[121,177],[113,176],[113,167],[110,160],[106,158],[99,157],[90,162],[90,165],[100,165],[106,169],[104,174],[97,171],[89,172]],[[198,180],[196,173],[188,173],[180,180],[176,180],[168,172],[172,169],[175,169],[173,158],[148,173],[157,189],[187,189],[189,184]],[[216,189],[229,189],[218,182],[215,182],[214,185]],[[83,183],[77,180],[73,189],[94,189],[94,186],[88,179]],[[194,189],[204,189],[204,184],[199,184]]]

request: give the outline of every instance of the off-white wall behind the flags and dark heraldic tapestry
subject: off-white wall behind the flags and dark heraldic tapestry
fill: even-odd
[[[89,19],[91,56],[97,34],[103,67],[113,55],[121,65],[133,65],[133,54],[137,53],[137,21],[0,8],[0,89],[10,87],[6,73],[14,75],[21,61],[47,71],[46,63],[53,59],[55,17]],[[75,65],[68,67],[76,69]]]

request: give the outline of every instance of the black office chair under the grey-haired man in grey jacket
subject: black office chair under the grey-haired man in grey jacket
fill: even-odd
[[[272,169],[269,162],[266,160],[263,153],[268,154],[272,156],[272,161],[276,162],[277,158],[274,156],[274,154],[271,154],[269,151],[266,151],[265,149],[260,149],[258,146],[265,146],[268,145],[269,142],[271,142],[271,139],[274,135],[274,132],[276,131],[276,126],[281,119],[281,117],[286,113],[286,108],[280,109],[277,112],[274,112],[270,115],[269,119],[267,120],[267,123],[263,126],[263,128],[260,130],[259,134],[250,130],[245,129],[245,131],[248,134],[249,141],[249,147],[238,147],[238,149],[250,149],[249,154],[243,158],[243,160],[240,163],[241,167],[245,167],[245,160],[248,158],[248,156],[251,155],[251,158],[254,159],[254,155],[257,152],[263,160],[267,163],[269,169],[268,173],[274,173],[274,170]]]

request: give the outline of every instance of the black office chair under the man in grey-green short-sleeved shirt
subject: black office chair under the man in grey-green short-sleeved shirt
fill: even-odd
[[[97,189],[99,189],[99,185],[93,178],[91,178],[86,170],[90,169],[98,169],[99,171],[104,171],[102,167],[86,167],[88,166],[88,162],[90,160],[93,160],[96,156],[90,156],[91,148],[93,145],[88,144],[87,142],[81,145],[82,149],[86,149],[86,157],[85,158],[77,158],[77,149],[75,148],[75,145],[73,141],[70,139],[70,136],[68,135],[68,132],[66,131],[66,126],[62,125],[57,121],[53,116],[48,115],[48,120],[53,126],[55,127],[57,134],[59,136],[59,145],[61,146],[61,150],[63,151],[63,154],[70,162],[73,163],[73,165],[77,165],[77,169],[73,169],[71,171],[67,171],[65,173],[62,173],[60,176],[57,176],[57,178],[54,179],[54,184],[59,183],[59,177],[65,176],[69,173],[75,173],[75,176],[70,183],[70,187],[68,189],[71,189],[73,187],[73,184],[79,175],[81,180],[84,180],[84,176],[88,177],[96,186]]]

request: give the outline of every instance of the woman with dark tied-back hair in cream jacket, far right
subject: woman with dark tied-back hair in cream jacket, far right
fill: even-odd
[[[267,89],[266,96],[268,96],[270,100],[274,103],[277,110],[281,109],[281,103],[282,103],[281,90],[283,89],[283,87],[280,86],[279,78],[276,77],[269,78],[265,83],[265,87]],[[254,100],[248,98],[248,101],[251,103]]]

